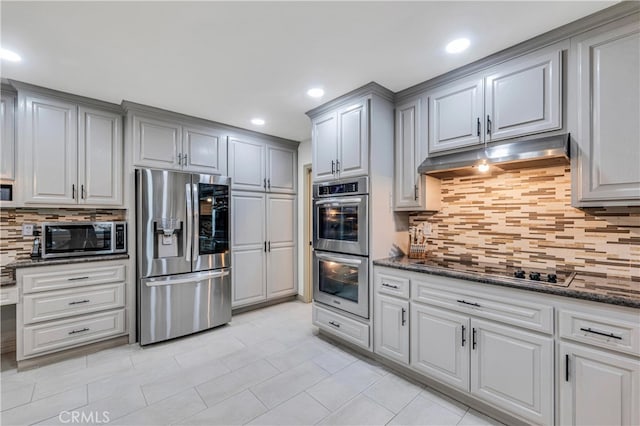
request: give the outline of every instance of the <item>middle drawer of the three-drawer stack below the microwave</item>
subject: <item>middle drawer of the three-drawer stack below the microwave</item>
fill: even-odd
[[[25,324],[124,307],[124,283],[24,295]]]

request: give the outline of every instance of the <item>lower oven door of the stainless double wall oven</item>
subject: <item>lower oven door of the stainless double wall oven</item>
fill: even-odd
[[[314,251],[313,299],[369,318],[369,258]]]

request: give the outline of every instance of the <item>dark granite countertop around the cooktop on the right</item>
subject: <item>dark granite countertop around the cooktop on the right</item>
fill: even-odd
[[[594,302],[640,308],[640,281],[630,278],[609,277],[577,272],[568,286],[549,284],[541,281],[523,280],[483,272],[481,267],[472,266],[463,269],[444,267],[439,262],[429,260],[391,257],[373,261],[374,265],[403,269],[406,271],[422,272],[425,274],[441,275],[475,281],[483,284],[500,285],[558,296],[591,300]],[[476,269],[475,271],[473,269]]]

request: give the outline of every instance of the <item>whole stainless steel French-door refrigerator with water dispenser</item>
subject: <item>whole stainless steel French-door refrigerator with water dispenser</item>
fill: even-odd
[[[141,345],[231,320],[228,177],[136,170]]]

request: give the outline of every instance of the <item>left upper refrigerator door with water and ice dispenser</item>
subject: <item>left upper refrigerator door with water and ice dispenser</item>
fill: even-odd
[[[136,170],[140,277],[191,272],[191,175]]]

